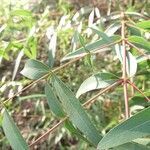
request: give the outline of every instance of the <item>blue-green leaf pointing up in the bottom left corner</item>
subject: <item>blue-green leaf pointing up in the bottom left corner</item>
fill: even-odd
[[[4,109],[3,112],[2,127],[10,145],[14,150],[29,150],[28,145],[6,109]]]

